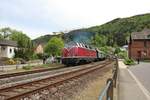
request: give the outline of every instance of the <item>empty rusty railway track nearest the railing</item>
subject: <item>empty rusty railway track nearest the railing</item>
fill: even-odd
[[[11,87],[5,87],[0,89],[0,100],[18,100],[21,98],[22,100],[24,100],[23,98],[27,98],[32,94],[36,94],[53,86],[60,85],[68,80],[81,77],[82,75],[85,75],[97,69],[103,69],[111,63],[112,62],[107,61],[101,65],[91,65],[86,68],[69,70],[64,73],[56,74],[44,79],[18,84]]]

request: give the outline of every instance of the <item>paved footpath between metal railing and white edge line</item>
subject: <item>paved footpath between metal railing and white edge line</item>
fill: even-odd
[[[118,100],[150,100],[136,76],[119,61]]]

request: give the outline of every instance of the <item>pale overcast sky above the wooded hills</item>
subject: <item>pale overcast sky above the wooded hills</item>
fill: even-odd
[[[150,0],[0,0],[0,28],[34,39],[144,13],[150,13]]]

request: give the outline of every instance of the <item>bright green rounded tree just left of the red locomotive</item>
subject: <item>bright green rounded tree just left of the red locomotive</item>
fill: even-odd
[[[64,42],[61,38],[53,37],[46,44],[44,51],[49,55],[60,56]]]

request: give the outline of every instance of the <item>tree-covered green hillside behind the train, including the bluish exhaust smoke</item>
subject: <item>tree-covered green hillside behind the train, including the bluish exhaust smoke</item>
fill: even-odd
[[[66,42],[78,41],[78,42],[91,42],[91,39],[95,36],[104,35],[107,38],[107,45],[122,46],[125,45],[130,33],[135,31],[141,31],[144,28],[150,28],[150,14],[136,15],[128,18],[116,18],[103,25],[93,26],[90,28],[72,30],[62,35]],[[97,35],[96,35],[97,34]],[[51,35],[42,36],[34,42],[46,43],[51,38]]]

